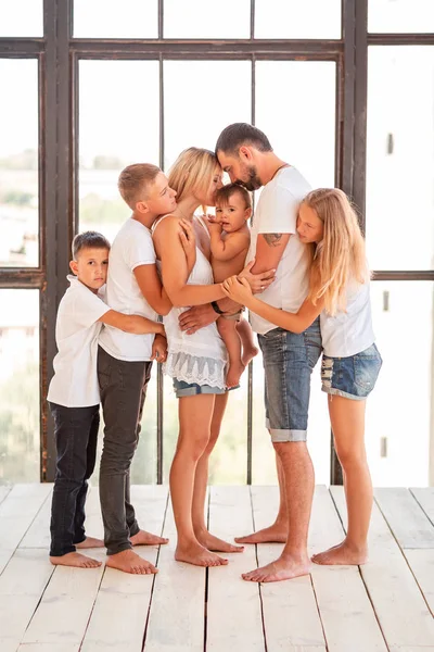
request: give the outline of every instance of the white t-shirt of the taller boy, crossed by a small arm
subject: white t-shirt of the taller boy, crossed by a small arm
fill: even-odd
[[[155,265],[155,250],[149,228],[130,217],[114,239],[108,256],[107,303],[126,315],[141,315],[153,322],[157,313],[141,293],[133,271]],[[127,362],[151,360],[154,334],[133,335],[113,326],[100,333],[100,346],[112,358]]]

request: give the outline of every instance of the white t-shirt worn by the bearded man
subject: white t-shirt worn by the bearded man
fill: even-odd
[[[297,312],[308,293],[309,256],[297,236],[296,222],[298,205],[310,190],[311,187],[295,167],[282,167],[264,186],[251,233],[247,263],[255,258],[259,234],[291,234],[275,280],[259,294],[265,303],[289,312]],[[253,330],[261,335],[276,328],[276,324],[254,313],[251,313],[251,322]]]

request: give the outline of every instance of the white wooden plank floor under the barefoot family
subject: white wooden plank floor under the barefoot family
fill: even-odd
[[[247,547],[210,570],[174,561],[167,487],[133,488],[141,525],[170,537],[159,550],[138,549],[158,566],[155,577],[54,569],[51,489],[0,487],[0,652],[434,652],[434,488],[376,490],[366,566],[314,566],[261,586],[240,574],[275,559],[279,544]],[[231,538],[260,528],[277,501],[276,487],[213,487],[210,529]],[[342,522],[342,489],[318,487],[310,552],[339,542]],[[102,534],[95,489],[88,532]]]

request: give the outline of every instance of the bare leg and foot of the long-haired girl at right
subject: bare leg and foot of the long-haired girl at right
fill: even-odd
[[[372,482],[365,450],[366,401],[329,394],[329,413],[336,453],[344,471],[348,512],[342,543],[312,556],[316,564],[365,564],[372,511]]]

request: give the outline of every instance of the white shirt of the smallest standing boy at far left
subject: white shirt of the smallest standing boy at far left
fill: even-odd
[[[97,377],[100,317],[110,311],[99,294],[89,290],[76,276],[67,276],[71,286],[59,304],[55,324],[58,354],[54,376],[47,400],[65,408],[88,408],[100,402]]]

